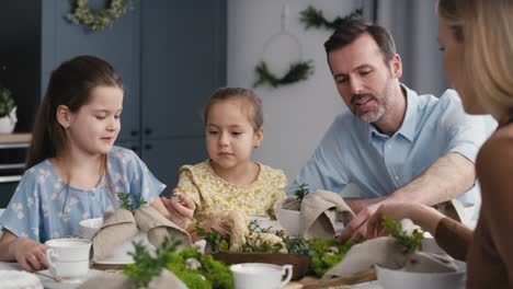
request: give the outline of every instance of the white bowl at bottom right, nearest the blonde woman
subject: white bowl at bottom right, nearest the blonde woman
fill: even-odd
[[[459,270],[449,273],[413,273],[376,267],[377,279],[384,289],[463,289],[465,288],[466,266],[456,262]]]

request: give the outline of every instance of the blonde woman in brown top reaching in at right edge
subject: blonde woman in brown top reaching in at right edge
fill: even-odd
[[[513,288],[513,1],[440,0],[437,10],[445,70],[465,111],[499,123],[477,158],[478,224],[471,231],[422,205],[386,204],[369,219],[368,234],[381,232],[385,215],[410,218],[467,261],[467,288]]]

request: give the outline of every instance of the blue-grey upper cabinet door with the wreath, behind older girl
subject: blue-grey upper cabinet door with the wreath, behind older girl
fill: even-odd
[[[101,8],[110,1],[90,2]],[[132,4],[134,9],[115,21],[112,27],[92,32],[66,19],[71,11],[69,1],[42,1],[42,91],[46,90],[52,70],[65,60],[78,55],[106,59],[119,72],[127,91],[121,140],[139,139],[140,136],[140,0],[132,0]]]

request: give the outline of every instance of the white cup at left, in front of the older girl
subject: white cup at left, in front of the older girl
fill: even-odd
[[[80,280],[89,271],[91,241],[86,239],[54,239],[45,242],[49,271],[64,280]]]

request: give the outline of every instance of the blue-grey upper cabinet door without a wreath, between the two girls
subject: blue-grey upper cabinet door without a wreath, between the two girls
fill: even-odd
[[[203,105],[226,83],[226,0],[141,9],[144,138],[203,136]]]

